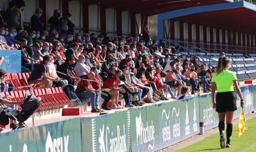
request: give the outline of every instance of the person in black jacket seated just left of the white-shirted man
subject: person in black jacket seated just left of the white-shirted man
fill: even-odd
[[[74,58],[67,58],[66,62],[61,64],[57,71],[62,72],[64,74],[57,73],[58,77],[63,78],[64,80],[68,81],[68,84],[75,85],[76,80],[80,80],[78,77],[74,77],[72,74],[72,69],[74,68],[75,59]],[[69,76],[67,76],[69,75]]]

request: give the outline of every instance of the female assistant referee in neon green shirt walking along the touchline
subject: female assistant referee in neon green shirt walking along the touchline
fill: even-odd
[[[241,107],[243,108],[244,102],[237,83],[236,74],[229,71],[230,60],[228,57],[220,57],[217,70],[213,74],[211,98],[213,102],[213,108],[216,109],[219,115],[219,131],[220,131],[220,147],[232,148],[230,139],[233,130],[233,115],[236,108],[236,95],[234,94],[233,84],[241,99]],[[217,95],[215,99],[215,90],[217,87]],[[227,144],[225,145],[224,129],[225,129],[225,116],[227,123]]]

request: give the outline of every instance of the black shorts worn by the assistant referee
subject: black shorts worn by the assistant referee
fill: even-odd
[[[235,111],[236,109],[236,95],[234,91],[217,93],[216,112]]]

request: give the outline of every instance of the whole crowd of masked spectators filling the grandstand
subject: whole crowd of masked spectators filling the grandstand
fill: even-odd
[[[173,99],[198,95],[201,85],[203,92],[211,91],[215,67],[199,65],[200,57],[196,55],[183,58],[175,54],[178,47],[168,46],[163,40],[151,40],[147,24],[140,39],[80,34],[74,33],[72,14],[62,15],[56,9],[48,20],[47,31],[40,21],[43,10],[37,8],[30,23],[25,23],[24,7],[25,2],[19,0],[1,11],[0,49],[21,50],[22,66],[28,70],[34,64],[29,84],[63,89],[72,86],[81,100],[90,99],[91,112],[99,112],[99,106],[111,110],[168,100],[166,91]],[[5,85],[4,79],[1,81]],[[104,99],[102,105],[99,92]],[[124,107],[118,104],[120,95],[124,97]]]

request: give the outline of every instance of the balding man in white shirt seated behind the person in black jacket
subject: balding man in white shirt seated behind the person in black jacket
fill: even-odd
[[[85,64],[85,62],[88,62],[88,60],[90,60],[90,57],[88,55],[78,56],[78,61],[74,69],[77,77],[83,78],[85,75],[89,74],[91,68]]]

